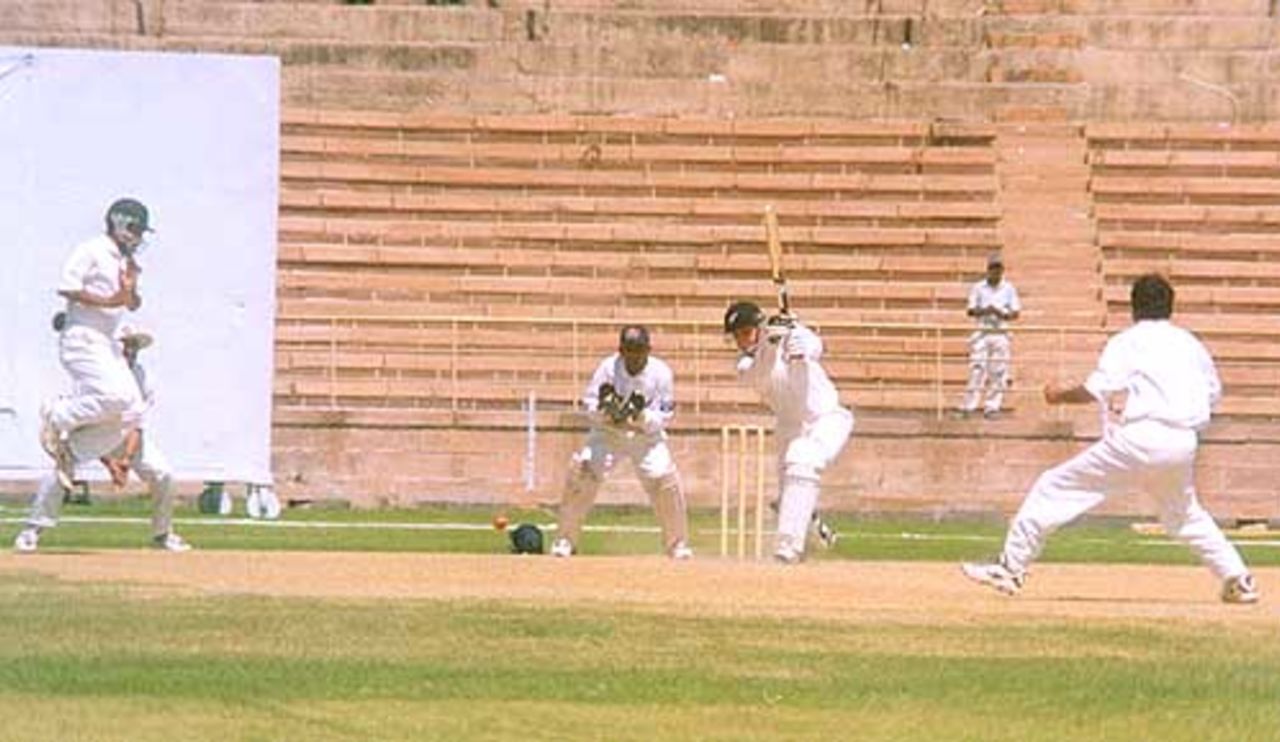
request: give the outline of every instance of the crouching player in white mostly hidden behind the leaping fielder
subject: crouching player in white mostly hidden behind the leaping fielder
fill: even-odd
[[[138,361],[138,352],[151,344],[151,335],[123,326],[119,340],[124,348],[131,376],[137,384],[147,411],[150,411],[155,406],[155,389],[148,383],[146,370]],[[128,431],[122,431],[120,426],[110,422],[79,427],[68,436],[67,445],[76,461],[99,458],[110,471],[111,481],[118,486],[125,484],[129,471],[137,472],[138,478],[147,484],[152,499],[152,546],[165,551],[191,550],[191,545],[173,532],[177,487],[169,461],[156,445],[155,436],[146,431],[145,416],[137,429]],[[24,553],[35,551],[40,546],[41,531],[58,525],[61,504],[63,487],[58,481],[58,475],[50,472],[45,475],[36,489],[27,525],[14,539],[14,549]]]

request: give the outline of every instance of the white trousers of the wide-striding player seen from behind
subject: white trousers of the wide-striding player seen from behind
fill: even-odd
[[[1023,500],[1005,539],[1005,565],[1025,572],[1048,535],[1119,489],[1148,493],[1170,536],[1220,580],[1244,574],[1240,553],[1196,496],[1196,432],[1156,421],[1111,429],[1074,458],[1046,471]]]

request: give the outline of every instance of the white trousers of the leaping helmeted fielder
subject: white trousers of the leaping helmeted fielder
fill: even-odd
[[[77,325],[63,331],[58,352],[72,377],[72,394],[52,402],[54,427],[69,432],[96,423],[138,425],[145,406],[120,343]]]

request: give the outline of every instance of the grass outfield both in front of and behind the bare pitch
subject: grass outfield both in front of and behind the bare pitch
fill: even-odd
[[[10,521],[5,537],[20,513],[0,510]],[[44,559],[74,569],[96,550],[134,549],[146,540],[146,507],[96,504],[65,514],[70,522],[42,542],[49,556],[0,555],[0,741],[1234,742],[1275,739],[1280,729],[1276,626],[1251,609],[1199,622],[1028,617],[1000,610],[1014,604],[975,588],[973,600],[993,612],[941,623],[919,614],[846,622],[704,617],[599,601],[253,596],[82,583],[26,565]],[[454,551],[506,559],[498,556],[506,540],[488,526],[489,514],[291,510],[276,525],[179,517],[202,553]],[[609,530],[589,532],[584,550],[654,550],[646,513],[595,516],[593,525]],[[515,519],[549,522],[544,513]],[[838,525],[844,539],[823,562],[977,558],[998,549],[1002,535],[998,523]],[[704,554],[718,544],[716,527],[712,517],[695,519]],[[1254,564],[1277,564],[1274,541],[1242,544]],[[187,555],[152,556],[180,568]],[[1190,563],[1165,539],[1107,525],[1062,531],[1046,560]],[[765,576],[786,580],[788,571]]]

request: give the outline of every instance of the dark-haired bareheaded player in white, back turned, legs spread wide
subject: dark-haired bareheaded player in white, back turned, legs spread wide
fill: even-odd
[[[1039,476],[1014,517],[995,563],[964,564],[965,576],[1018,594],[1050,533],[1137,486],[1149,493],[1165,530],[1187,544],[1221,581],[1225,603],[1257,603],[1260,592],[1240,553],[1196,496],[1197,432],[1222,386],[1208,351],[1170,322],[1174,289],[1160,275],[1134,281],[1134,324],[1111,338],[1084,384],[1044,386],[1050,404],[1087,404],[1125,394],[1120,425],[1074,458]]]

